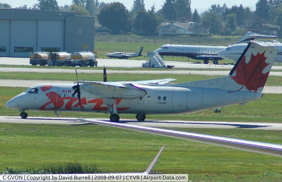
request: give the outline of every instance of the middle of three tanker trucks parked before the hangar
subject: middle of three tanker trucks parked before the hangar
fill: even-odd
[[[52,52],[48,55],[48,66],[70,66],[71,54],[67,52]]]

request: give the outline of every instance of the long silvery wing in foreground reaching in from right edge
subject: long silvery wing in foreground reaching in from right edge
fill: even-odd
[[[152,133],[172,138],[179,138],[184,140],[196,141],[201,143],[213,144],[218,146],[224,146],[228,148],[235,148],[250,152],[257,152],[261,154],[274,155],[282,157],[282,145],[254,142],[241,139],[232,139],[227,137],[218,137],[212,135],[203,135],[198,133],[189,133],[184,131],[166,130],[160,128],[152,128],[146,126],[129,125],[121,123],[113,123],[100,120],[78,119],[84,122],[91,122],[94,124],[102,124],[105,126],[111,126],[115,128],[122,128],[127,130],[141,131],[145,133]]]

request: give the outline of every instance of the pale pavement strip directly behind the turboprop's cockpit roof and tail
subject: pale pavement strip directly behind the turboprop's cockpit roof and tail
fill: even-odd
[[[2,87],[30,87],[38,83],[65,83],[73,84],[74,81],[56,81],[56,80],[1,80],[0,86]],[[263,93],[277,93],[282,94],[282,87],[278,86],[265,86]]]

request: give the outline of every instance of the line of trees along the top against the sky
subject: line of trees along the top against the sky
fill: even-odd
[[[79,16],[96,16],[102,27],[112,34],[140,30],[146,35],[155,35],[164,21],[192,21],[207,28],[215,35],[242,35],[251,22],[272,23],[282,27],[282,0],[258,0],[256,10],[243,5],[228,8],[226,4],[213,4],[201,15],[197,9],[191,11],[191,0],[165,0],[162,8],[155,12],[155,5],[145,9],[144,0],[134,0],[131,10],[122,3],[104,3],[98,0],[72,0],[72,5],[58,6],[56,0],[37,0],[33,7],[18,8],[76,12]],[[1,4],[0,8],[10,8]]]

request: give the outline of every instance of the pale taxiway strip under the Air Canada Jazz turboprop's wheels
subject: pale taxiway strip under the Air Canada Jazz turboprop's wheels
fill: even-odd
[[[109,119],[92,118],[93,120],[109,121]],[[35,124],[71,124],[85,125],[76,118],[67,117],[28,117],[22,119],[17,116],[0,116],[0,123],[35,123]],[[121,119],[120,123],[136,124],[150,127],[175,127],[175,128],[241,128],[253,130],[282,130],[282,123],[265,122],[224,122],[224,121],[181,121],[181,120],[137,120]]]

